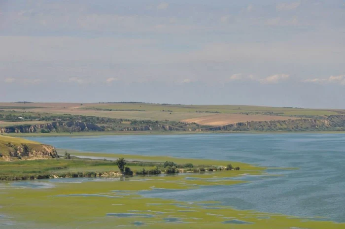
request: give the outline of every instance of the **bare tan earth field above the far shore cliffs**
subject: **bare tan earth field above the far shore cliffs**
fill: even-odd
[[[247,121],[275,121],[297,119],[295,117],[283,117],[274,115],[243,115],[243,114],[214,114],[199,118],[184,119],[181,122],[198,123],[207,126],[224,126]]]

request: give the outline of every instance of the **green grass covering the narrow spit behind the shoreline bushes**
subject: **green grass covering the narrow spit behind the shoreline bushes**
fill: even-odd
[[[29,142],[29,141],[28,141]],[[65,150],[58,151],[61,155],[64,154]],[[180,159],[171,157],[150,157],[141,155],[121,155],[121,154],[98,154],[98,153],[78,153],[68,151],[71,156],[85,156],[85,157],[97,157],[96,159],[48,159],[48,160],[17,160],[12,162],[0,161],[1,174],[0,177],[22,177],[32,175],[51,175],[51,174],[62,174],[62,173],[77,173],[77,172],[118,172],[117,165],[112,161],[118,158],[124,157],[128,162],[129,166],[133,171],[145,169],[152,169],[154,165],[152,163],[164,163],[165,161],[173,161],[176,164],[192,163],[197,167],[200,166],[226,166],[227,164],[233,164],[233,166],[240,166],[242,170],[250,171],[262,171],[264,168],[255,167],[250,164],[243,164],[237,162],[224,162],[216,160],[200,160],[200,159]],[[138,161],[138,162],[132,162]],[[186,162],[187,161],[187,162]],[[143,165],[140,162],[143,162]],[[152,163],[150,163],[152,162]]]

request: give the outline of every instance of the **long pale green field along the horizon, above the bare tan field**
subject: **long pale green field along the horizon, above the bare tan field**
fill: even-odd
[[[3,106],[6,106],[2,103]],[[69,107],[68,104],[60,103],[32,103],[31,111],[36,113],[50,113],[50,114],[73,114],[73,115],[91,115],[109,118],[126,118],[137,120],[170,120],[180,121],[189,118],[198,118],[213,113],[196,113],[201,112],[220,112],[222,114],[238,114],[238,113],[273,113],[283,116],[325,116],[345,114],[345,110],[335,109],[301,109],[289,107],[268,107],[268,106],[250,106],[250,105],[162,105],[150,103],[84,103],[83,106]],[[35,106],[36,105],[36,106]],[[13,109],[21,109],[22,107],[16,103],[9,103],[7,105]],[[66,106],[66,108],[62,108]],[[39,108],[40,107],[40,108]],[[114,111],[93,110],[97,109],[112,109]],[[30,108],[27,108],[30,110]],[[115,111],[123,110],[123,111]],[[145,111],[134,111],[145,110]],[[169,112],[162,112],[162,110],[169,110]],[[170,112],[172,111],[172,112]],[[172,114],[170,114],[172,113]]]

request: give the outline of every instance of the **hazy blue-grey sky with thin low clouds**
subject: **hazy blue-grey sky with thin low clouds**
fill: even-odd
[[[0,0],[0,101],[345,109],[345,0]]]

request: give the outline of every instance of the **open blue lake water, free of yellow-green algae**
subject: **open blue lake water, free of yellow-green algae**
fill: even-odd
[[[194,134],[31,137],[57,148],[240,161],[296,170],[248,177],[250,183],[197,190],[152,190],[148,197],[217,200],[238,209],[345,222],[345,134]],[[244,178],[246,179],[246,178]]]

